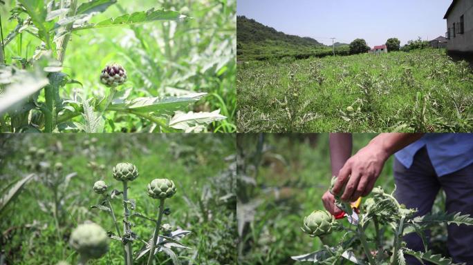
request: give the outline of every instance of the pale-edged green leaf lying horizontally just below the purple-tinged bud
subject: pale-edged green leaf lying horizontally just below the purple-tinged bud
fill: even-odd
[[[207,93],[194,93],[180,97],[139,97],[131,101],[113,101],[108,110],[133,110],[134,112],[175,112],[201,99]]]

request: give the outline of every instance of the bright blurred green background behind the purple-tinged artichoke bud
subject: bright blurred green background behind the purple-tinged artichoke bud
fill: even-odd
[[[17,21],[8,20],[9,10],[16,1],[5,2],[4,5],[0,3],[3,37],[17,25]],[[107,63],[120,63],[128,74],[128,81],[121,90],[133,88],[131,98],[207,92],[204,99],[187,110],[220,109],[221,115],[228,118],[214,122],[207,130],[234,132],[236,0],[119,0],[90,22],[150,8],[176,10],[192,19],[156,21],[74,34],[68,44],[63,71],[84,86],[68,85],[61,92],[62,97],[108,95],[108,88],[100,84],[100,72]],[[15,63],[12,57],[31,58],[40,44],[39,39],[24,32],[21,43],[19,38],[15,38],[6,46],[6,63]],[[113,126],[106,124],[107,132],[135,132],[149,127],[149,121],[136,116],[107,112],[106,117],[115,121]]]

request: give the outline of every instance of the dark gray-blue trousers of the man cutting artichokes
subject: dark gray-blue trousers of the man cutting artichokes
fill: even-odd
[[[472,155],[472,154],[468,154]],[[432,210],[438,190],[445,191],[445,206],[448,213],[461,212],[473,216],[473,164],[454,173],[437,177],[427,155],[427,148],[418,150],[414,163],[406,168],[398,159],[394,161],[396,198],[407,208],[417,208],[416,215],[425,215]],[[415,233],[404,237],[407,247],[423,251],[422,239]],[[455,263],[473,265],[473,226],[448,226],[447,247]],[[407,264],[420,264],[417,259],[406,256]]]

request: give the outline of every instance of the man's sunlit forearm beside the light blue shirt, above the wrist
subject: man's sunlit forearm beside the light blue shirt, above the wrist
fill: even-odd
[[[388,159],[398,150],[409,146],[409,144],[417,141],[423,135],[423,133],[380,133],[369,141],[369,145],[375,145],[380,148],[385,155],[383,159]]]

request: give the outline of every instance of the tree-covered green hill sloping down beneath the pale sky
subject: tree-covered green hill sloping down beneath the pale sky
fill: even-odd
[[[236,17],[236,41],[239,61],[324,57],[333,52],[331,46],[325,46],[315,39],[288,35],[244,16]],[[348,55],[348,44],[336,44],[337,55]]]

